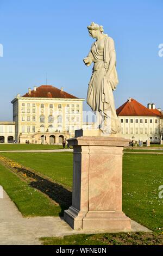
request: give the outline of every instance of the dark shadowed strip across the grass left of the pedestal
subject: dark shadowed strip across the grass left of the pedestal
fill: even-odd
[[[63,216],[64,210],[71,206],[72,192],[64,186],[43,178],[34,173],[32,170],[19,167],[14,167],[14,169],[19,175],[22,176],[23,179],[26,177],[26,182],[28,182],[29,186],[46,194],[49,198],[55,201],[55,203],[60,205],[61,212],[59,216]]]

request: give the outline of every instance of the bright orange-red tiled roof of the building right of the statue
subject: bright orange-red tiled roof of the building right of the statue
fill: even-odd
[[[124,116],[143,116],[143,117],[160,117],[161,112],[158,109],[148,109],[134,99],[126,101],[121,107],[116,110],[117,115]]]

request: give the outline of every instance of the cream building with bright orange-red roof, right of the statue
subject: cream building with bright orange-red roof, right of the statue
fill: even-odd
[[[129,98],[116,110],[121,122],[122,137],[146,142],[150,139],[159,143],[163,133],[163,111],[156,109],[154,103],[147,107]]]

